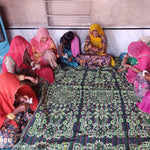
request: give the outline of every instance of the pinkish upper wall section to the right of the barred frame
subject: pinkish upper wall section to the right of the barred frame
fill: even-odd
[[[93,0],[92,22],[103,27],[150,27],[150,0]]]

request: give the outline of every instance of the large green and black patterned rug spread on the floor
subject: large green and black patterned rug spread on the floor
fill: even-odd
[[[150,116],[137,108],[125,74],[111,66],[58,67],[47,89],[16,149],[149,149]]]

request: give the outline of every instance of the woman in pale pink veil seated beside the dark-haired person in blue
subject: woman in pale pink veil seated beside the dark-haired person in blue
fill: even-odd
[[[42,66],[57,67],[57,48],[46,28],[39,28],[37,34],[30,41],[33,48],[33,58]]]

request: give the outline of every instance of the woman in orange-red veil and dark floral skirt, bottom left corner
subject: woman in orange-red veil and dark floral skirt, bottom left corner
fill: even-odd
[[[0,74],[0,83],[0,149],[12,148],[37,108],[38,99],[10,72]]]

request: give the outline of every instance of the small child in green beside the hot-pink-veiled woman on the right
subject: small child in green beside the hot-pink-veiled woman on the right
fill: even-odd
[[[132,66],[138,64],[137,59],[134,58],[134,57],[130,57],[128,55],[128,53],[122,53],[122,54],[120,54],[120,57],[121,58],[123,57],[122,62],[121,62],[122,68],[120,68],[120,69],[117,70],[118,73],[127,70],[125,68],[126,64],[129,64],[129,65],[132,65]]]

